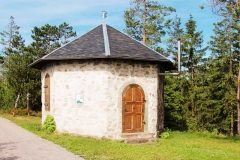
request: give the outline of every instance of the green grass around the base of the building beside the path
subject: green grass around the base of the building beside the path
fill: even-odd
[[[19,126],[63,146],[85,159],[121,160],[238,160],[240,138],[210,133],[171,132],[168,139],[153,144],[126,144],[71,134],[46,133],[41,118],[1,115]]]

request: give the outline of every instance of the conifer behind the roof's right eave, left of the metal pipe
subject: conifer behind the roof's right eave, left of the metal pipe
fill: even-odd
[[[165,40],[167,45],[165,56],[171,57],[177,63],[178,40],[183,37],[184,30],[181,28],[181,18],[175,17],[167,31],[169,38]],[[173,130],[187,130],[185,112],[182,108],[184,104],[184,94],[182,93],[182,83],[186,81],[184,73],[180,76],[166,76],[164,84],[164,105],[165,105],[165,127]]]

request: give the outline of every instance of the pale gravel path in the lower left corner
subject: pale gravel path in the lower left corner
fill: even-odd
[[[0,118],[0,160],[83,160],[66,149]]]

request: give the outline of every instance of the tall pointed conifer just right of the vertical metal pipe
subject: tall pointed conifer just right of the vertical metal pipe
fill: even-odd
[[[199,68],[203,61],[203,56],[207,47],[203,47],[202,32],[196,31],[196,21],[192,15],[185,24],[186,31],[182,39],[182,66],[186,68],[186,77],[183,83],[183,93],[185,94],[184,110],[190,129],[197,129],[199,119],[199,105],[197,105],[197,95],[199,93],[198,81],[201,80],[201,70]],[[186,95],[187,94],[187,95]]]

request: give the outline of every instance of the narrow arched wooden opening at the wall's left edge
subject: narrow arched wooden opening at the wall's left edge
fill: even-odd
[[[47,74],[45,76],[45,85],[44,85],[44,95],[45,95],[45,111],[50,111],[50,76]]]

